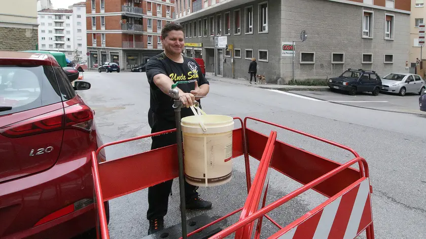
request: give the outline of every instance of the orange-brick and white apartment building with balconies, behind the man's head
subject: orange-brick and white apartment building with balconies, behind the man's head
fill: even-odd
[[[172,20],[174,0],[89,0],[88,66],[116,62],[130,69],[159,54],[162,27]]]

